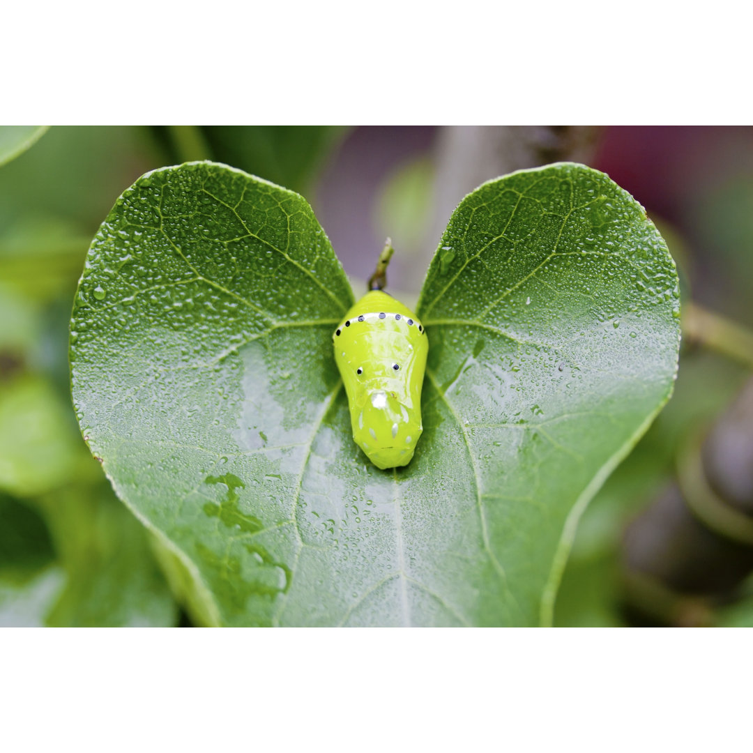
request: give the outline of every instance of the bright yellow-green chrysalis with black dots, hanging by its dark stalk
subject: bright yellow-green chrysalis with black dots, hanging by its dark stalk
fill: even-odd
[[[389,260],[391,254],[388,241],[372,278],[379,288],[385,282],[385,255]],[[332,340],[355,444],[377,468],[407,465],[423,431],[421,388],[428,353],[423,325],[377,289],[352,306]]]

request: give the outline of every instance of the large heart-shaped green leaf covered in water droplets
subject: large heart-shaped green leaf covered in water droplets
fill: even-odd
[[[297,194],[211,163],[140,178],[72,321],[84,435],[206,623],[548,623],[578,515],[672,389],[675,268],[605,175],[554,165],[456,210],[417,313],[424,433],[355,446],[352,303]]]

